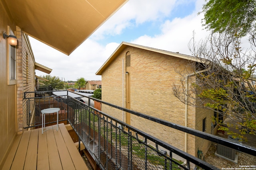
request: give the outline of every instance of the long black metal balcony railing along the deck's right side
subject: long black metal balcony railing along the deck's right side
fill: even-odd
[[[115,117],[95,109],[90,106],[90,99],[92,98],[87,97],[88,104],[84,104],[79,100],[68,96],[70,92],[67,91],[66,93],[67,95],[65,96],[53,97],[53,100],[58,102],[60,107],[64,106],[63,108],[67,110],[67,121],[76,131],[79,139],[101,169],[190,170],[191,168],[196,169],[198,167],[207,170],[218,169],[203,160],[116,119]],[[26,94],[24,94],[24,98],[25,96]],[[37,99],[38,98],[35,98],[34,100],[36,101]],[[44,100],[40,99],[39,102],[41,101]],[[209,141],[228,146],[232,149],[256,155],[255,148],[247,147],[241,143],[232,143],[231,141],[208,133],[115,106],[107,102],[100,100],[96,101]],[[186,165],[175,160],[173,158],[174,156],[182,157],[186,160]]]

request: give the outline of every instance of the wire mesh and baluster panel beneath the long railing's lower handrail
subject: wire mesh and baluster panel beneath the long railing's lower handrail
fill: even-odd
[[[135,131],[123,127],[111,117],[102,115],[94,107],[68,98],[68,108],[70,124],[102,169],[180,169],[180,164],[167,154],[164,155],[138,139],[134,136]]]

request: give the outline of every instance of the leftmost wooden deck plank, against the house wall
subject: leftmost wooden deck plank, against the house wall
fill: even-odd
[[[14,160],[14,156],[16,154],[16,151],[18,149],[18,146],[20,144],[20,139],[22,137],[22,134],[21,135],[17,135],[17,137],[15,138],[15,141],[12,145],[12,148],[6,158],[6,161],[4,162],[4,166],[3,166],[3,170],[9,170],[12,166],[12,161]]]

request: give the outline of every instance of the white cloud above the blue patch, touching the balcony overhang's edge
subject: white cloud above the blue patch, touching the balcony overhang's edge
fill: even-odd
[[[170,15],[175,0],[129,0],[92,35],[102,39],[106,35],[120,35],[127,27],[136,27],[146,21],[156,21]]]

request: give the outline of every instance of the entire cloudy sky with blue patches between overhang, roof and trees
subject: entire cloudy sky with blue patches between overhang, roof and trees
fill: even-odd
[[[30,37],[37,63],[52,68],[62,80],[101,80],[95,75],[122,41],[190,55],[188,42],[195,31],[204,39],[204,0],[129,0],[71,55],[67,56]],[[36,70],[36,75],[46,75]]]

